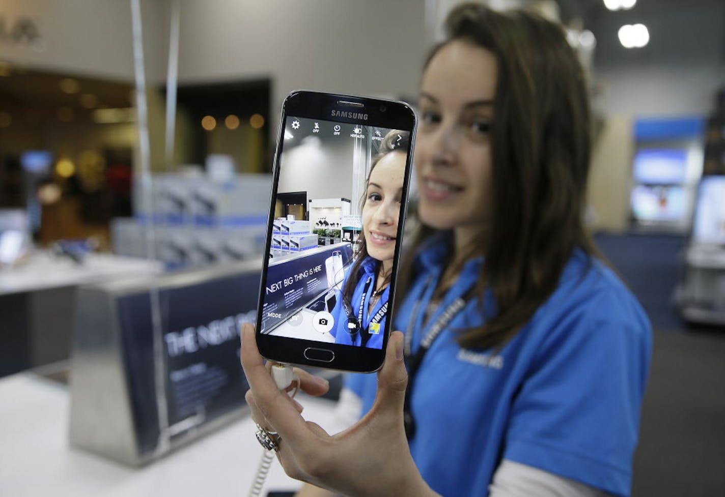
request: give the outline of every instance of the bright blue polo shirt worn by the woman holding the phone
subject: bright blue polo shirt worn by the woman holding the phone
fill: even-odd
[[[416,302],[426,309],[426,280],[439,277],[445,251],[438,244],[419,254],[419,275],[394,329],[410,333]],[[480,265],[480,259],[465,265],[436,314],[473,285]],[[469,301],[418,369],[410,452],[428,485],[442,496],[487,496],[495,469],[510,459],[628,496],[652,349],[650,322],[634,296],[576,249],[558,288],[498,354],[457,344],[455,329],[481,325],[494,312],[490,292],[482,308]],[[422,315],[416,318],[413,351],[427,331]],[[363,414],[373,404],[376,380],[348,377]]]

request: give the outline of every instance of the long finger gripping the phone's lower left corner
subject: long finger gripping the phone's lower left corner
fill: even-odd
[[[247,376],[249,388],[263,419],[280,433],[287,443],[304,444],[310,435],[305,419],[297,412],[289,396],[277,388],[265,367],[264,359],[257,350],[254,326],[245,323],[241,327],[241,366]]]

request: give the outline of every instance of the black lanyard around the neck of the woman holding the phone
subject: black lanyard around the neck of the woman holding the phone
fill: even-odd
[[[433,275],[428,277],[426,280],[425,288],[431,284]],[[468,292],[466,292],[468,293]],[[452,321],[456,314],[458,314],[465,307],[465,295],[455,298],[448,306],[444,309],[438,319],[435,320],[431,325],[428,333],[421,340],[421,344],[418,346],[418,350],[415,354],[412,354],[413,345],[413,329],[415,327],[415,321],[418,317],[418,311],[421,309],[422,299],[418,299],[415,303],[413,312],[410,315],[408,321],[408,327],[405,331],[405,365],[408,371],[408,384],[405,390],[405,406],[403,407],[403,421],[405,422],[405,436],[408,440],[411,440],[415,435],[415,418],[413,417],[413,409],[410,405],[410,396],[413,392],[413,384],[415,383],[415,374],[423,363],[423,357],[426,356],[426,352],[431,348],[433,342],[441,334],[442,330]]]

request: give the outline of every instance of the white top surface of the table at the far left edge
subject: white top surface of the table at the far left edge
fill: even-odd
[[[163,264],[113,254],[88,254],[83,264],[39,251],[19,267],[0,270],[0,295],[70,285],[95,283],[116,277],[161,274]]]

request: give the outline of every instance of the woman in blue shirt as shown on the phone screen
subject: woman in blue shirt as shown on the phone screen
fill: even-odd
[[[398,136],[402,139],[398,140]],[[330,333],[335,343],[383,346],[409,141],[408,133],[392,130],[370,163],[360,248],[345,278],[341,298],[332,311],[335,327]]]

